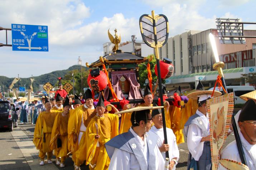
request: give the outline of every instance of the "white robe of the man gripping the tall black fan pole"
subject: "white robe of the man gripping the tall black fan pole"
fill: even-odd
[[[164,129],[160,128],[157,129],[155,126],[151,127],[150,129],[151,132],[156,133],[158,135],[158,141],[157,141],[157,146],[160,148],[164,142]],[[170,128],[166,128],[166,134],[167,134],[167,142],[169,144],[169,158],[172,160],[173,158],[177,157],[177,161],[179,160],[179,149],[178,145],[176,143],[176,136],[173,133],[173,130]],[[161,152],[163,155],[163,158],[165,160],[166,155],[165,152]],[[177,163],[175,164],[175,166]],[[173,167],[173,170],[175,169],[175,166]]]

